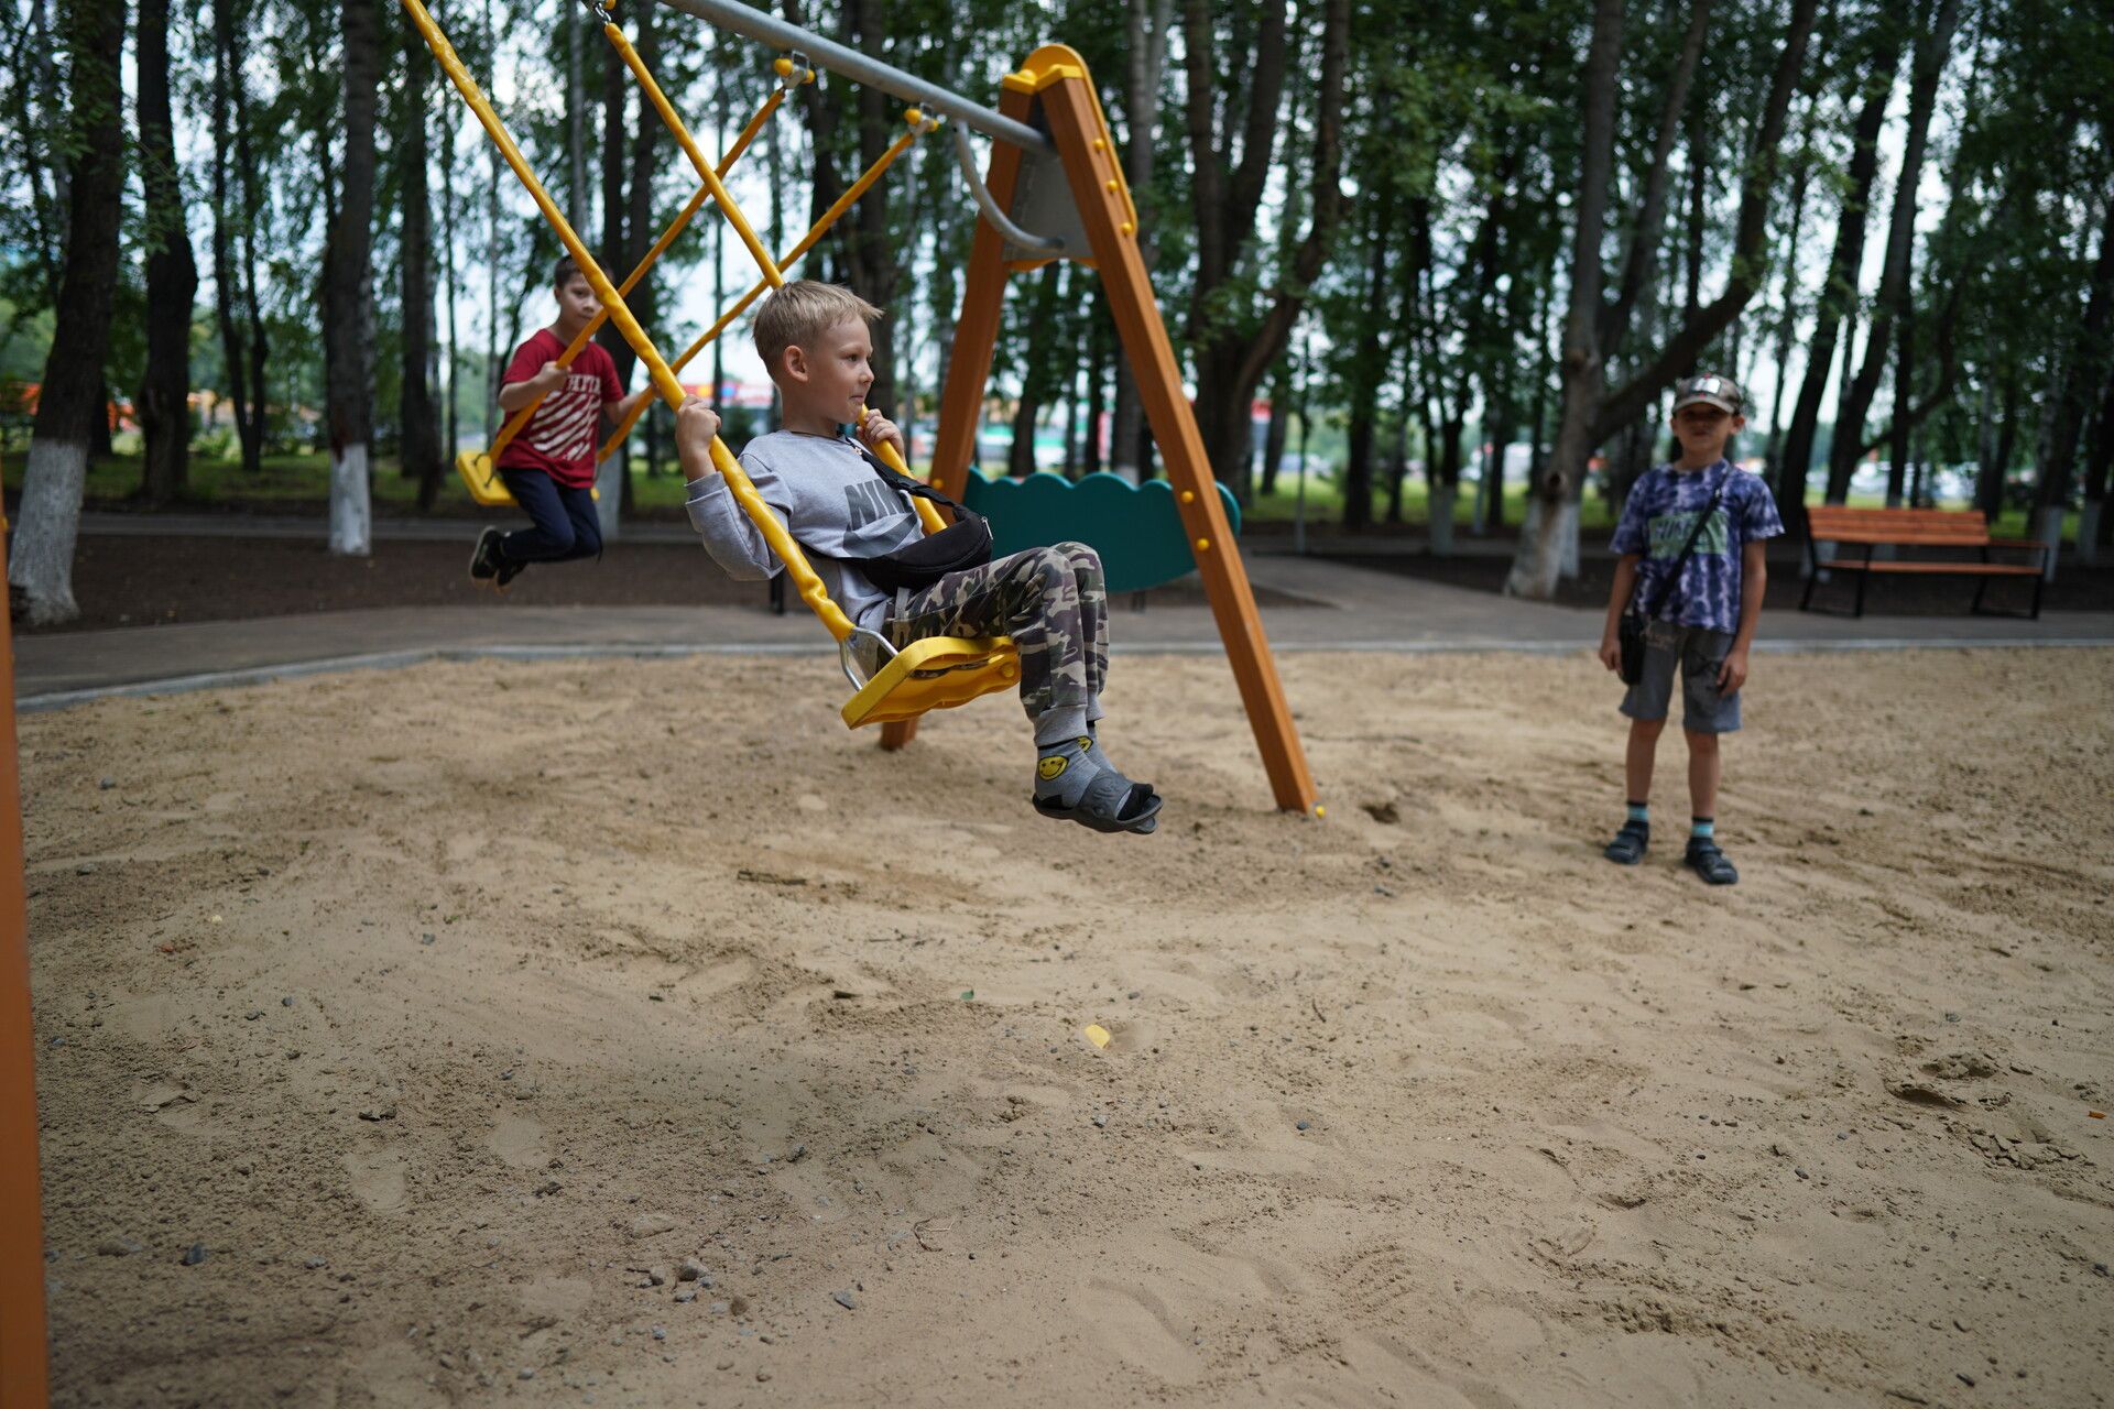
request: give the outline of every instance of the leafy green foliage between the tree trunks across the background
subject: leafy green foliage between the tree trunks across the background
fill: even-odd
[[[1290,296],[1304,300],[1304,308],[1279,368],[1294,349],[1311,346],[1317,374],[1304,387],[1309,399],[1328,408],[1345,433],[1357,422],[1385,456],[1399,444],[1412,458],[1440,458],[1454,429],[1499,412],[1509,414],[1516,433],[1524,435],[1537,395],[1547,422],[1556,406],[1554,330],[1571,285],[1566,262],[1592,4],[1501,0],[1425,6],[1366,0],[1353,6],[1340,93],[1345,209],[1321,270],[1311,287],[1302,287],[1290,258],[1313,215],[1323,0],[1290,0],[1283,11],[1285,93],[1260,127],[1273,167],[1262,207],[1254,228],[1237,232],[1224,277],[1197,300],[1192,199],[1199,173],[1188,137],[1190,95],[1182,59],[1186,46],[1203,36],[1188,34],[1186,6],[1169,6],[1173,23],[1163,80],[1146,110],[1131,112],[1125,74],[1131,13],[1139,2],[1158,8],[1154,0],[803,0],[801,19],[822,34],[850,38],[848,17],[858,11],[879,34],[884,59],[983,104],[996,104],[998,78],[1036,44],[1059,40],[1078,49],[1097,78],[1118,148],[1154,144],[1154,177],[1133,190],[1133,199],[1158,251],[1154,283],[1167,323],[1192,365],[1203,349],[1239,349],[1264,336],[1277,300]],[[1235,120],[1218,123],[1220,135],[1209,152],[1220,177],[1239,169],[1247,154],[1249,133],[1237,114],[1245,112],[1254,93],[1258,36],[1275,15],[1268,4],[1277,2],[1226,0],[1201,8],[1216,55],[1205,97],[1216,118],[1235,114]],[[76,146],[76,123],[63,44],[51,32],[61,8],[57,0],[0,4],[8,38],[0,53],[0,380],[40,378],[51,338],[49,308],[63,268],[66,163]],[[404,319],[421,315],[400,306],[397,279],[404,101],[412,78],[427,84],[433,239],[442,234],[442,207],[455,224],[461,317],[452,374],[444,380],[467,429],[482,429],[486,344],[499,342],[501,355],[512,346],[520,334],[516,304],[524,287],[541,281],[541,264],[556,243],[503,171],[499,218],[488,222],[490,158],[474,129],[459,133],[452,167],[444,165],[442,125],[461,129],[463,110],[423,51],[406,57],[397,11],[383,8],[389,19],[383,27],[385,80],[376,133],[372,338],[374,408],[387,444],[393,437],[389,422],[395,418]],[[1763,281],[1765,294],[1704,357],[1744,376],[1803,374],[1803,332],[1841,218],[1850,125],[1865,93],[1881,78],[1875,55],[1903,36],[1913,42],[1928,27],[1930,8],[1884,0],[1831,0],[1822,6],[1776,167],[1765,253],[1744,270]],[[1666,80],[1685,32],[1681,6],[1632,2],[1626,11],[1602,251],[1611,281],[1640,215]],[[1693,279],[1702,302],[1714,298],[1733,273],[1740,194],[1757,156],[1755,114],[1763,106],[1788,13],[1791,0],[1719,6],[1712,13],[1668,167],[1668,211],[1651,289],[1655,313],[1640,317],[1632,330],[1621,353],[1626,365],[1649,359],[1679,325],[1689,296],[1691,241],[1700,249]],[[596,211],[605,44],[592,21],[571,0],[440,0],[435,17],[560,203],[571,194],[569,36],[583,30],[583,194],[588,209]],[[774,55],[765,46],[715,36],[689,17],[651,4],[626,11],[624,23],[628,30],[655,25],[662,84],[700,139],[710,137],[719,112],[725,112],[731,135],[769,91]],[[275,446],[290,450],[313,444],[313,408],[321,403],[317,289],[342,152],[340,8],[338,0],[256,0],[239,11],[239,25],[247,46],[245,120],[262,201],[258,211],[233,209],[228,218],[256,243],[262,315],[273,346],[266,399],[277,425]],[[171,17],[178,175],[201,266],[192,380],[203,391],[220,393],[228,387],[228,370],[209,258],[216,154],[209,120],[220,87],[214,51],[211,4]],[[827,142],[820,154],[833,161],[839,180],[850,180],[863,165],[858,97],[858,84],[824,78],[816,101],[835,114],[829,137],[816,135],[810,118],[820,110],[803,110],[805,97],[778,120],[789,239],[805,228],[810,213],[814,144]],[[894,125],[901,104],[888,99],[884,110]],[[2103,6],[1968,0],[1939,114],[1926,161],[1926,171],[1934,175],[1926,186],[1936,186],[1941,194],[1917,211],[1915,224],[1915,365],[1909,382],[1917,397],[1934,401],[1920,444],[1928,454],[1970,461],[1991,439],[1991,418],[2004,414],[2017,442],[2013,458],[2025,465],[2034,456],[2051,378],[2061,370],[2059,349],[2067,346],[2067,330],[2082,313],[2097,232],[2114,194],[2114,25],[2106,23]],[[636,133],[641,123],[651,125],[651,114],[628,95],[624,120]],[[1881,142],[1886,152],[1898,150],[1898,116],[1894,123],[1896,129]],[[975,211],[947,144],[947,133],[926,139],[896,167],[886,228],[877,232],[901,266],[890,300],[890,336],[905,395],[926,410],[945,368],[947,327],[975,230]],[[987,139],[977,137],[977,148],[989,150]],[[108,382],[120,397],[137,387],[144,363],[144,256],[171,234],[148,228],[142,215],[135,156],[133,150],[116,315],[104,359]],[[748,161],[761,167],[763,158],[759,146]],[[1890,218],[1886,171],[1873,192],[1869,249],[1884,243]],[[1693,215],[1691,177],[1702,194]],[[649,203],[653,232],[672,220],[693,188],[687,163],[662,137]],[[1793,230],[1795,190],[1805,194]],[[230,194],[239,196],[239,190]],[[763,224],[761,211],[750,215]],[[674,287],[708,277],[710,222],[710,213],[702,215],[662,260],[657,306],[672,308]],[[850,230],[850,222],[841,226],[816,251],[808,273],[846,277],[852,268]],[[590,215],[583,232],[598,243],[598,213]],[[1784,256],[1793,249],[1795,262],[1786,266]],[[1867,264],[1875,266],[1875,260]],[[738,292],[740,285],[729,296]],[[1869,302],[1871,287],[1865,287],[1856,308],[1860,327],[1869,327]],[[1778,370],[1767,363],[1776,357],[1776,330],[1786,308],[1797,336],[1791,365]],[[666,317],[660,323],[670,342],[696,332],[676,327],[676,321]],[[1106,340],[1106,300],[1087,270],[1068,266],[1055,275],[1015,279],[994,395],[1010,399],[1025,391],[1049,406],[1046,414],[1065,414],[1061,403],[1076,395],[1082,370],[1093,363],[1095,340]],[[1101,359],[1099,365],[1106,403],[1114,363]],[[1292,380],[1273,372],[1264,387],[1283,395],[1292,391]],[[1894,414],[1892,399],[1894,391],[1886,384],[1871,412],[1877,425],[1867,427],[1867,435]],[[1757,422],[1755,429],[1759,444],[1763,427]],[[214,463],[201,454],[201,486],[224,484]],[[1376,492],[1385,494],[1389,477],[1383,465]],[[1414,515],[1418,494],[1416,488],[1406,492],[1406,513]],[[1264,518],[1271,513],[1268,503],[1256,509]]]

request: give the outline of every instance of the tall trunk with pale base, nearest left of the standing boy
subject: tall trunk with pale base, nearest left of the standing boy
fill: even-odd
[[[1609,169],[1615,152],[1615,84],[1621,59],[1621,0],[1594,0],[1592,44],[1586,53],[1583,146],[1579,152],[1577,226],[1571,243],[1571,313],[1564,319],[1564,408],[1556,446],[1533,486],[1520,547],[1505,577],[1507,596],[1550,600],[1566,543],[1577,537],[1579,486],[1592,454],[1592,418],[1600,408],[1602,363],[1600,228],[1607,218]]]

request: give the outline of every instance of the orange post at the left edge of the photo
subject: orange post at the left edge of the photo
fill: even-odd
[[[4,534],[0,520],[0,534]],[[6,553],[0,551],[0,562]],[[0,613],[0,1409],[42,1409],[44,1219],[36,1170],[36,1033],[30,1029],[30,910],[23,898],[15,640]]]

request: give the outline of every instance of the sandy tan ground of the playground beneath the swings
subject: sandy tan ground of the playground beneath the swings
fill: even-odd
[[[2114,1396],[2114,653],[1759,657],[1729,891],[1583,655],[1281,665],[1152,839],[824,657],[25,718],[57,1401]]]

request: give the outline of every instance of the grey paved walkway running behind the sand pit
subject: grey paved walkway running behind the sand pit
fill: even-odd
[[[1262,610],[1277,651],[1583,651],[1600,638],[1600,613],[1520,602],[1370,572],[1315,558],[1247,560],[1258,585],[1283,594]],[[1114,604],[1118,651],[1218,653],[1209,606]],[[1772,613],[1759,651],[1888,646],[2114,646],[2114,613],[2048,613],[2040,621],[1996,617],[1818,617]],[[698,653],[831,653],[803,610],[774,617],[759,606],[474,606],[192,621],[23,636],[15,642],[15,695],[23,710],[51,710],[110,691],[150,693],[243,684],[285,674],[408,665],[435,657],[581,657]]]

